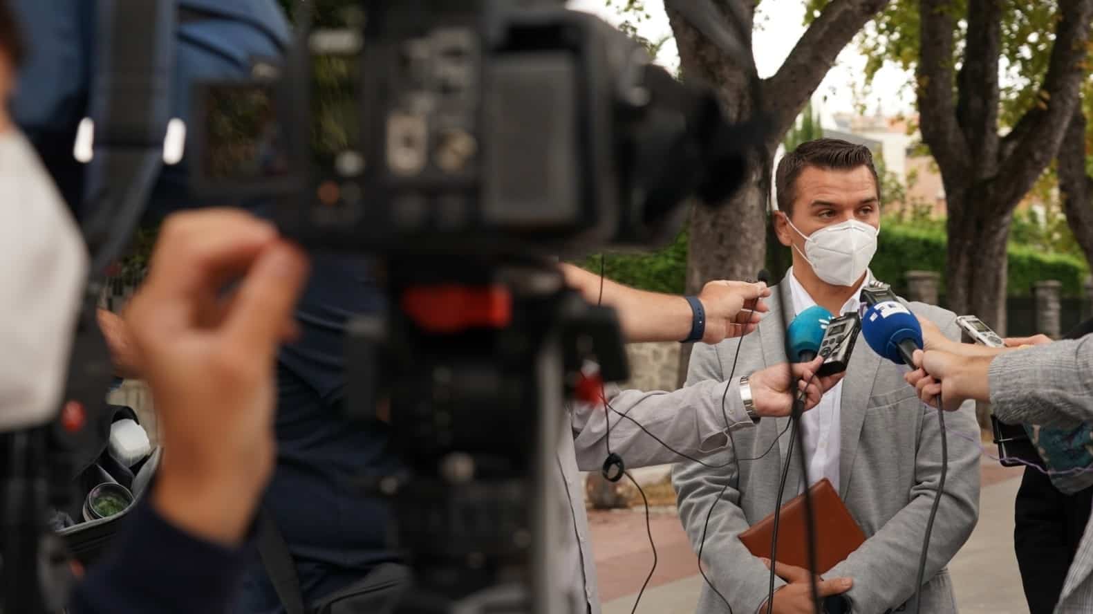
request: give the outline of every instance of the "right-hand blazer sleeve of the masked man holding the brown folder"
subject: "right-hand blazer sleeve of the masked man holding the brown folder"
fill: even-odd
[[[955,319],[938,322],[945,336],[960,339]],[[937,410],[925,404],[915,457],[915,484],[909,501],[825,578],[854,578],[846,594],[851,612],[884,612],[915,593],[922,534],[941,479],[941,424]],[[979,517],[979,427],[975,402],[945,414],[949,451],[945,489],[930,533],[926,581],[936,576],[964,545]],[[956,435],[956,434],[961,434]],[[971,440],[969,440],[971,439]]]

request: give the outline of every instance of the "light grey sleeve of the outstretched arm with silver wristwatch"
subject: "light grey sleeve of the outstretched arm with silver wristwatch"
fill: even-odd
[[[729,445],[729,429],[754,426],[743,410],[737,383],[705,380],[673,392],[620,392],[618,387],[611,388],[607,412],[602,405],[589,403],[573,408],[574,448],[581,471],[602,465],[608,424],[611,451],[621,456],[627,468],[685,460],[678,452],[702,458]]]

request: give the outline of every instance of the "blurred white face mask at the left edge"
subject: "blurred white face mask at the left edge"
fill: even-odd
[[[15,128],[0,132],[0,433],[57,410],[86,275],[83,239]]]

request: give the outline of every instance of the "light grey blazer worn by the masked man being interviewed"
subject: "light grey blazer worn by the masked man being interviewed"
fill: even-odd
[[[716,346],[694,346],[687,386],[728,379],[738,344],[742,345],[733,379],[786,361],[785,332],[777,316],[779,293],[775,292],[767,304],[771,315],[752,334]],[[937,323],[949,338],[959,339],[952,312],[920,303],[908,306]],[[787,307],[786,312],[792,310]],[[859,336],[843,382],[839,495],[868,539],[825,577],[854,578],[854,588],[846,597],[857,614],[915,609],[918,559],[940,475],[941,444],[937,412],[919,402],[915,389],[903,380],[906,370],[905,366],[880,358]],[[734,448],[707,461],[721,464],[733,453],[740,459],[760,457],[787,423],[788,418],[763,418],[757,428],[733,433]],[[930,614],[956,612],[945,564],[972,534],[979,508],[979,448],[952,436],[960,432],[978,441],[974,404],[969,402],[959,412],[947,414],[945,428],[950,434],[947,496],[933,523],[926,568],[928,582],[922,588],[922,612]],[[774,511],[788,442],[788,435],[778,438],[763,459],[743,460],[722,470],[690,462],[675,465],[673,483],[680,519],[696,553],[706,532],[702,562],[706,575],[738,614],[757,612],[767,597],[768,571],[737,535]],[[792,462],[784,503],[799,492],[801,483],[798,464]],[[724,496],[718,500],[722,488]],[[715,501],[717,506],[705,529]],[[776,581],[777,586],[785,583]],[[714,614],[728,609],[704,585],[698,612]]]

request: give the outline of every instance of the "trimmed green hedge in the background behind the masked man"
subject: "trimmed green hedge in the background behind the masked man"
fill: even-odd
[[[776,245],[771,249],[786,248]],[[1018,245],[1010,246],[1009,255],[1008,293],[1011,296],[1029,295],[1032,283],[1041,280],[1062,282],[1065,296],[1082,295],[1083,280],[1090,273],[1084,261]],[[596,273],[600,271],[599,256],[589,257],[579,264]],[[680,233],[670,246],[658,251],[609,253],[604,264],[609,279],[644,290],[681,294],[686,271],[686,233]],[[877,256],[870,268],[878,279],[900,290],[905,285],[904,273],[908,270],[937,271],[944,284],[944,232],[889,222],[879,235]],[[773,269],[772,273],[775,273]]]

